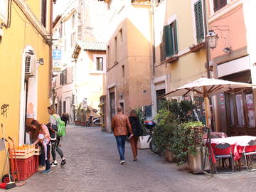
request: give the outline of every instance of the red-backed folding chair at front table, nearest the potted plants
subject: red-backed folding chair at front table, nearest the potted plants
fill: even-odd
[[[220,159],[222,159],[222,161],[224,159],[230,159],[229,167],[231,164],[231,168],[232,168],[230,171],[218,171],[217,165],[215,164],[216,174],[232,174],[234,172],[234,164],[233,164],[233,155],[232,155],[230,144],[228,143],[217,144],[215,146],[214,154],[215,154],[215,159],[216,160],[219,159],[219,166],[220,166]]]

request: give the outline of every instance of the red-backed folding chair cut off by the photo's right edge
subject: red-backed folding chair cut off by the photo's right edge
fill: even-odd
[[[245,156],[245,166],[247,171],[255,171],[256,169],[253,169],[251,156],[256,155],[256,139],[250,140],[250,142],[245,145],[242,154]],[[248,160],[250,160],[250,165],[248,165]]]

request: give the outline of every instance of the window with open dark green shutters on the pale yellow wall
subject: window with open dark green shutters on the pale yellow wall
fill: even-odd
[[[172,55],[178,53],[176,21],[167,26],[164,26],[164,33],[162,43],[160,45],[160,51],[161,61],[165,60],[166,57],[171,57]]]

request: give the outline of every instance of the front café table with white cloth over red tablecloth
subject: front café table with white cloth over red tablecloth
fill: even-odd
[[[225,138],[213,138],[210,139],[211,146],[214,148],[217,144],[220,143],[228,143],[231,146],[233,158],[235,161],[240,160],[242,156],[242,150],[247,146],[248,142],[250,140],[256,139],[256,137],[248,136],[248,135],[242,135],[242,136],[235,136],[235,137],[225,137]],[[256,149],[256,146],[253,146]],[[240,161],[239,161],[240,164]]]

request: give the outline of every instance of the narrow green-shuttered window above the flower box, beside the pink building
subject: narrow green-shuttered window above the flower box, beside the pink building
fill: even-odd
[[[196,41],[197,43],[201,43],[204,38],[204,30],[203,30],[203,7],[202,1],[199,0],[194,4],[195,10],[195,21],[196,21]]]

